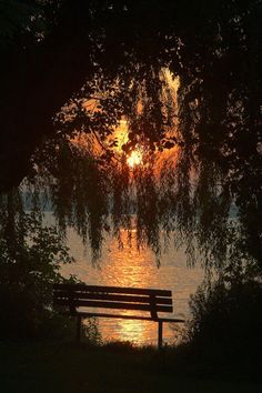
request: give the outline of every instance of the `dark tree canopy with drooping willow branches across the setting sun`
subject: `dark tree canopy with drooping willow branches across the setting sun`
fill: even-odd
[[[118,234],[134,205],[138,236],[157,253],[160,229],[178,230],[192,258],[196,244],[211,264],[248,255],[262,266],[261,1],[8,3],[0,190],[51,177],[60,224],[77,225],[94,250],[111,213]],[[175,100],[167,69],[179,77]],[[114,151],[122,118],[123,152],[142,141],[151,158],[132,179]],[[72,144],[79,133],[101,152]],[[155,175],[157,154],[174,144],[175,163]]]

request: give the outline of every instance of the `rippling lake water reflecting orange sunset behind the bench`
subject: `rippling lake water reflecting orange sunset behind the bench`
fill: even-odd
[[[162,255],[161,265],[158,268],[149,249],[139,252],[135,246],[129,246],[127,232],[123,231],[122,236],[122,250],[119,249],[117,240],[107,239],[101,260],[93,264],[81,239],[69,229],[68,245],[75,263],[63,266],[63,274],[75,274],[87,284],[171,290],[174,312],[167,316],[189,318],[189,298],[203,279],[202,269],[188,268],[184,250],[177,251],[174,248],[170,248]],[[130,341],[138,345],[157,344],[158,324],[154,322],[100,318],[98,324],[104,341]],[[171,344],[178,340],[179,333],[174,324],[164,323],[164,343]]]

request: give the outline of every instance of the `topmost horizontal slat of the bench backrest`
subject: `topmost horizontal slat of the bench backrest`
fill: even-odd
[[[172,291],[155,290],[144,288],[122,288],[122,286],[100,286],[100,285],[85,285],[85,284],[54,284],[54,291],[87,291],[100,293],[125,293],[125,294],[141,294],[141,295],[155,295],[155,296],[172,296]]]

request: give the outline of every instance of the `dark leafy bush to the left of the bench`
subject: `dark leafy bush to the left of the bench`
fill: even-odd
[[[51,289],[66,281],[60,266],[73,259],[61,234],[54,226],[42,226],[33,213],[23,213],[20,221],[14,216],[11,224],[7,216],[0,231],[1,337],[62,334],[70,321],[52,310]]]

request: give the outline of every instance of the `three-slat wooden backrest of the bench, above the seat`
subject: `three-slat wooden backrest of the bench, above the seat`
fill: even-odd
[[[148,311],[152,319],[158,319],[158,312],[173,312],[172,292],[168,290],[54,284],[53,301],[72,313],[81,306]]]

